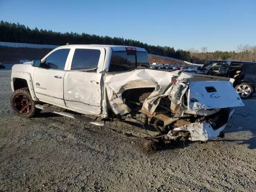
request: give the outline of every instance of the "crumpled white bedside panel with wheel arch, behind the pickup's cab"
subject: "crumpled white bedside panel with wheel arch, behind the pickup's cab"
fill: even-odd
[[[129,113],[131,109],[124,104],[122,93],[133,88],[154,87],[155,90],[148,96],[142,106],[142,109],[148,110],[152,114],[158,106],[160,98],[168,96],[173,77],[182,80],[193,76],[180,73],[178,70],[165,72],[150,69],[105,75],[104,82],[110,106],[115,114],[124,115]]]

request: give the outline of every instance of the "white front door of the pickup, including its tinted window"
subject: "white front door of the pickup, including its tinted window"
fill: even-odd
[[[43,102],[65,106],[63,97],[63,79],[66,73],[70,49],[57,49],[50,52],[34,71],[33,85],[36,97]]]

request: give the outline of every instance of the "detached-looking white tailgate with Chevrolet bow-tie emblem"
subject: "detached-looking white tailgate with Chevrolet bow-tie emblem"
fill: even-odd
[[[214,109],[244,106],[229,81],[191,82],[188,90],[188,109]]]

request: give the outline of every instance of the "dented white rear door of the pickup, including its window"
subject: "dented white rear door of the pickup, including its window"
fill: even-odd
[[[64,101],[83,114],[100,114],[105,49],[76,48],[64,76]]]

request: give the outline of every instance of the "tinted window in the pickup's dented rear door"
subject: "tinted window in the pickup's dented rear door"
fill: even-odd
[[[76,49],[74,52],[71,70],[89,70],[98,67],[100,50]]]

